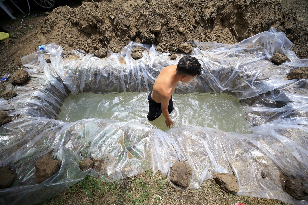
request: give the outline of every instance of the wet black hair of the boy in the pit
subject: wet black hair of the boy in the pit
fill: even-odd
[[[186,55],[183,56],[177,64],[176,74],[198,76],[201,74],[203,68],[197,58]]]

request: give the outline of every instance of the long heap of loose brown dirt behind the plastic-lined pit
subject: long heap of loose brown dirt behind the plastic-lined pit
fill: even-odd
[[[33,37],[32,45],[55,42],[65,50],[93,53],[105,48],[120,53],[135,41],[159,45],[173,54],[184,42],[233,44],[271,26],[297,43],[307,34],[303,24],[280,1],[83,2],[78,8],[62,6],[53,10]],[[298,50],[298,54],[306,57],[306,49]]]

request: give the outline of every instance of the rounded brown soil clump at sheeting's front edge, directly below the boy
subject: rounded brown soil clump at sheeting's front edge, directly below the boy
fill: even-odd
[[[193,169],[186,163],[176,162],[173,164],[170,172],[170,181],[179,187],[187,187]]]

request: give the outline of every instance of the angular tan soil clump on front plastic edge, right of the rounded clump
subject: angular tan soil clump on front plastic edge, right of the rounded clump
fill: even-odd
[[[237,193],[239,191],[237,177],[233,174],[213,173],[213,178],[223,191],[227,193]]]

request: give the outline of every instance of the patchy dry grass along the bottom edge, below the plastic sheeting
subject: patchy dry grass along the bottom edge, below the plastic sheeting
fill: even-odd
[[[226,194],[213,179],[205,180],[199,189],[178,190],[161,172],[151,170],[110,183],[87,176],[65,192],[39,204],[230,205],[237,202],[246,205],[287,204],[275,199]]]

